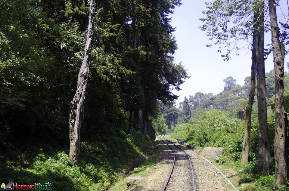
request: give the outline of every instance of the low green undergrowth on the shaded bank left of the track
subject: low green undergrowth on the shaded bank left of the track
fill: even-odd
[[[24,152],[11,148],[0,158],[0,182],[50,182],[53,190],[108,190],[120,179],[117,172],[152,153],[149,137],[140,132],[127,135],[122,130],[97,142],[82,142],[77,162],[68,158],[68,148],[57,145],[34,146]]]

